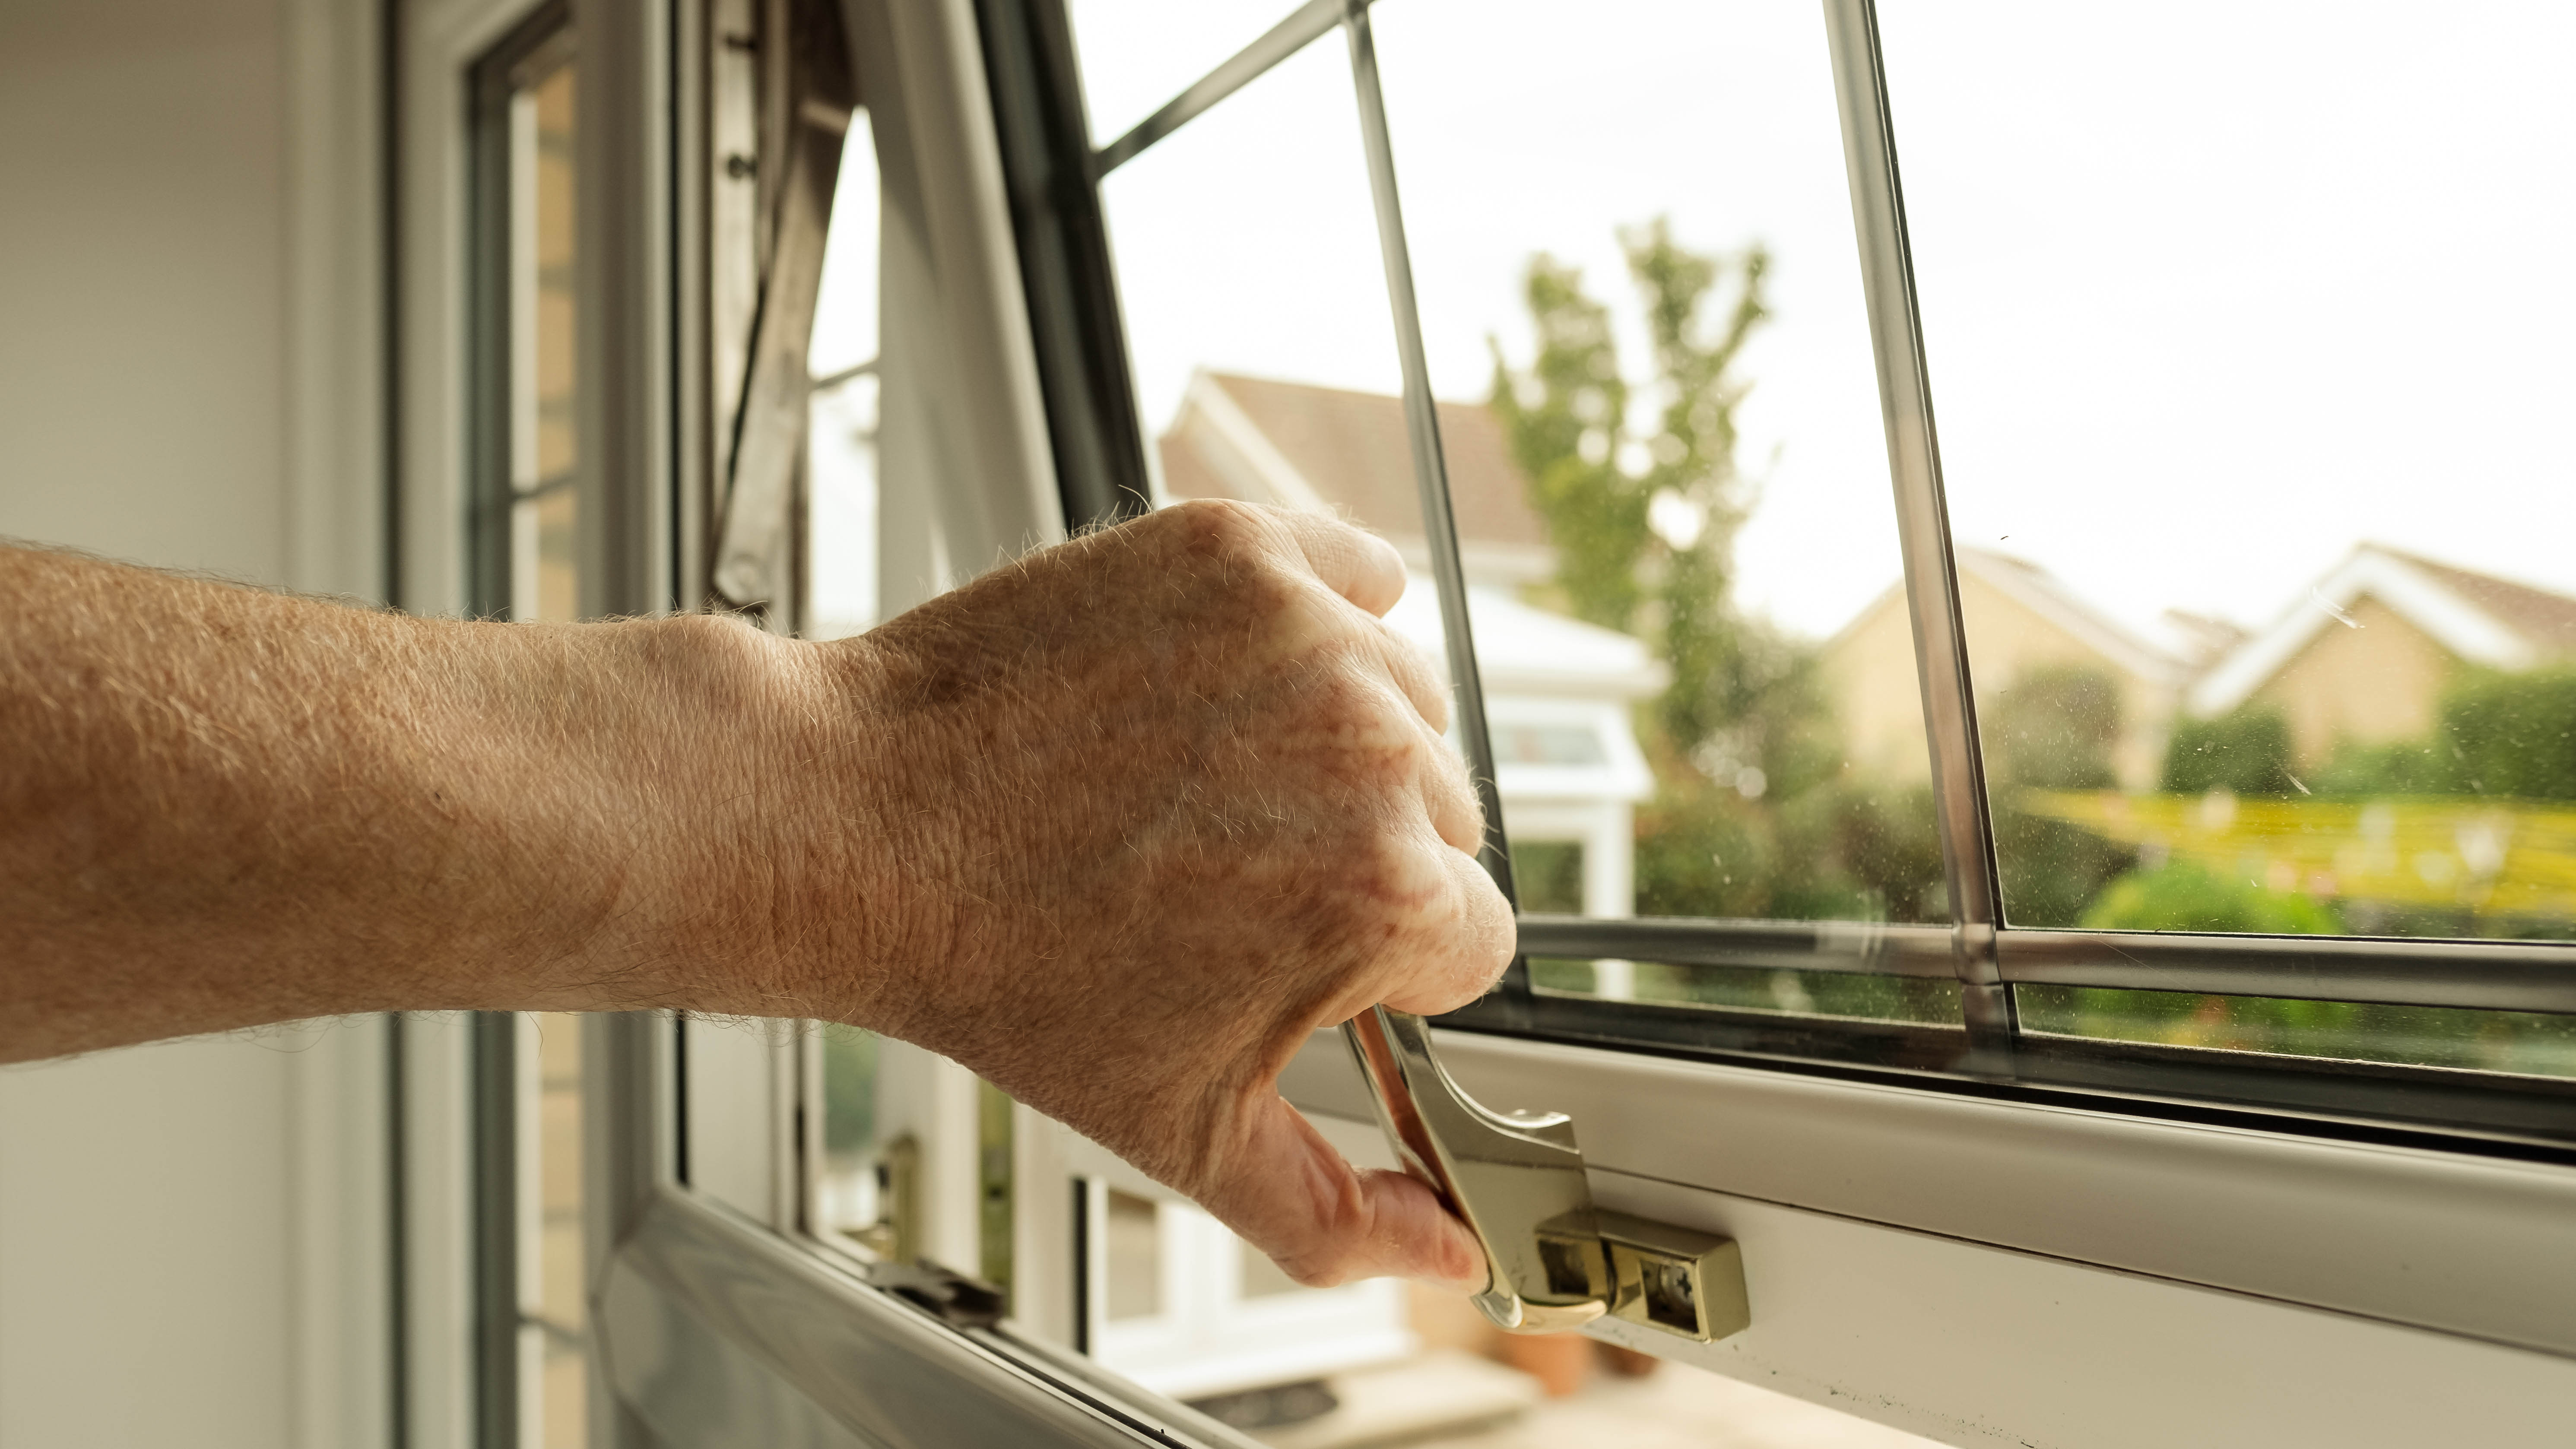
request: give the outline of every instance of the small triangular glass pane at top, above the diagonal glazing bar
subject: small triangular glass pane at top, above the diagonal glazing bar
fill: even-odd
[[[1128,134],[1296,8],[1298,0],[1072,0],[1092,147]],[[1340,49],[1342,33],[1316,44]]]

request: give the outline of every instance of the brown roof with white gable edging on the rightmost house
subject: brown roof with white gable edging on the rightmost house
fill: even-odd
[[[2360,628],[2344,615],[2365,595],[2470,664],[2530,669],[2543,659],[2576,654],[2576,600],[2383,543],[2360,543],[2269,628],[2202,674],[2192,687],[2192,713],[2233,710],[2326,628]]]

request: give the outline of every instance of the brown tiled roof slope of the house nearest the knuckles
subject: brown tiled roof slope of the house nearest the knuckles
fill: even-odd
[[[1422,538],[1404,399],[1239,373],[1203,373],[1200,381],[1221,389],[1327,507],[1388,538]],[[1185,404],[1157,440],[1164,486],[1177,499],[1247,497],[1249,489],[1229,481],[1193,440],[1190,412]],[[1463,543],[1548,540],[1502,425],[1484,404],[1440,404],[1440,450]]]

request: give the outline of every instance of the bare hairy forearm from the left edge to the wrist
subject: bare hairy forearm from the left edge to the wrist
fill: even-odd
[[[0,1060],[376,1009],[752,1011],[778,649],[0,548]]]

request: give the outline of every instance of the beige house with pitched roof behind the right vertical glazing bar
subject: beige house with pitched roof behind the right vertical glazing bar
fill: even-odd
[[[2164,741],[2190,679],[2190,661],[2076,597],[2038,564],[1958,551],[1958,605],[1968,631],[1968,674],[1984,708],[2027,672],[2081,667],[2120,692],[2120,739],[2112,772],[2125,790],[2154,790]],[[2223,628],[2179,620],[2190,636]],[[1904,584],[1891,584],[1824,643],[1821,667],[1842,710],[1852,767],[1888,780],[1924,780],[1922,679],[1914,667],[1914,620]]]

